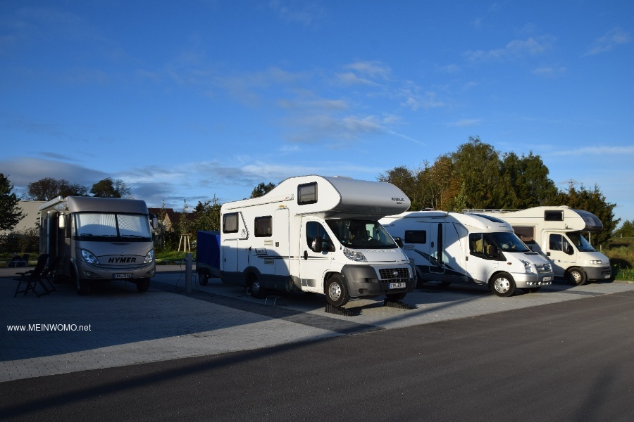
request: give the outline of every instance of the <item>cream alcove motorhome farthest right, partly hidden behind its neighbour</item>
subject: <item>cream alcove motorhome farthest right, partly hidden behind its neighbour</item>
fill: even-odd
[[[603,224],[591,212],[571,207],[533,207],[519,211],[466,210],[503,219],[531,249],[550,263],[555,276],[580,286],[588,280],[611,278],[610,260],[581,235],[602,231]]]

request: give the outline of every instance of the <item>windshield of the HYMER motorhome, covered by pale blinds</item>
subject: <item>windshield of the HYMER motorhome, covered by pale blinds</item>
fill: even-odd
[[[151,239],[147,215],[100,212],[75,214],[75,234],[80,238],[125,238],[126,240]]]

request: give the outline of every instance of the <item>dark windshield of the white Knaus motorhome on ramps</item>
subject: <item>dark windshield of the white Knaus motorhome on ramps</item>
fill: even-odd
[[[359,219],[327,219],[326,223],[337,240],[352,249],[398,248],[392,237],[378,222]]]

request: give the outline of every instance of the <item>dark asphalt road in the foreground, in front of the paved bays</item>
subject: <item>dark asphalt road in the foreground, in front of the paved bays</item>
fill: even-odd
[[[633,421],[634,291],[0,383],[1,421]]]

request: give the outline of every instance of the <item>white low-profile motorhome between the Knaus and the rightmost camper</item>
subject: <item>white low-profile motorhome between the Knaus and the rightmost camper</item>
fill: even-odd
[[[412,211],[379,222],[402,240],[419,281],[475,283],[502,297],[512,295],[516,288],[536,292],[552,283],[549,263],[528,249],[502,220]]]

